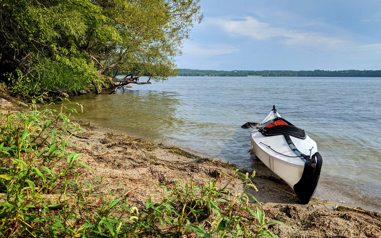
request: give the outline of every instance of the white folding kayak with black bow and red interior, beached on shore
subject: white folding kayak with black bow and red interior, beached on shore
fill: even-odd
[[[316,142],[285,120],[275,106],[261,123],[248,122],[242,128],[254,129],[251,148],[256,156],[307,204],[316,191],[323,161]]]

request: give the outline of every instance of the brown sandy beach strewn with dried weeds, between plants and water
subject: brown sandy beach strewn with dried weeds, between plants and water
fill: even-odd
[[[191,180],[202,186],[218,179],[219,186],[232,173],[234,164],[213,161],[187,153],[176,147],[155,145],[139,138],[107,133],[101,128],[84,125],[83,133],[73,137],[70,150],[83,153],[80,161],[93,168],[81,170],[81,178],[91,180],[104,177],[93,193],[107,193],[106,186],[120,194],[126,189],[128,199],[136,206],[144,205],[148,196],[160,200],[162,190],[155,184],[168,187],[176,182],[183,184]],[[253,182],[258,188],[249,190],[259,203],[250,199],[248,208],[258,206],[266,219],[278,220],[283,225],[274,225],[273,234],[287,237],[374,237],[381,236],[379,218],[369,214],[337,209],[313,198],[307,205],[298,204],[291,188],[274,174],[256,171]],[[123,185],[124,188],[118,188]],[[242,180],[232,182],[235,190],[242,190]]]

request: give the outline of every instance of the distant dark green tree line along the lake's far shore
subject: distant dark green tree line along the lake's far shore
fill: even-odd
[[[219,76],[219,77],[381,77],[381,70],[199,70],[179,69],[179,76]]]

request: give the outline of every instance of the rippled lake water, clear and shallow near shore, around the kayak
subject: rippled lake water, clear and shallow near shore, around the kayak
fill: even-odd
[[[84,106],[85,123],[252,169],[261,165],[240,126],[275,105],[317,142],[315,196],[381,211],[380,89],[381,78],[176,77],[70,100]]]

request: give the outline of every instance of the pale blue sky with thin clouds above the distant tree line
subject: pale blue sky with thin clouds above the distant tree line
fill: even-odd
[[[380,70],[380,0],[201,0],[179,68]]]

